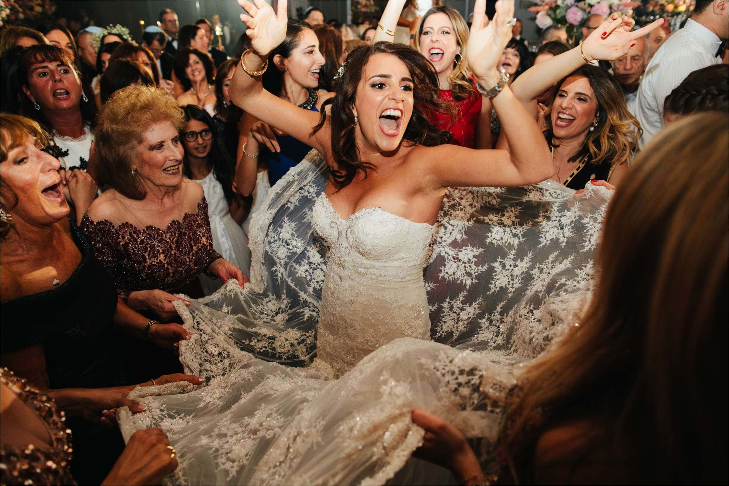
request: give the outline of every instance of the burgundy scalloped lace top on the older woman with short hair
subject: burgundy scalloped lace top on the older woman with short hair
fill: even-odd
[[[216,259],[208,219],[208,202],[203,197],[198,212],[176,219],[165,230],[155,226],[139,229],[131,223],[115,227],[108,219],[81,220],[94,247],[96,259],[117,284],[125,301],[138,290],[162,289],[171,294],[194,281]]]

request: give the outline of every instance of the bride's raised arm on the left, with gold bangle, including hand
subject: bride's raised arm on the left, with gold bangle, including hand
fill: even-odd
[[[241,57],[241,69],[236,69],[230,82],[230,99],[246,113],[278,130],[312,146],[322,154],[331,146],[331,130],[327,124],[314,136],[311,130],[319,123],[319,112],[299,108],[263,88],[261,79],[268,55],[286,39],[286,0],[278,0],[278,12],[265,1],[238,0],[247,12],[241,14],[251,49]]]

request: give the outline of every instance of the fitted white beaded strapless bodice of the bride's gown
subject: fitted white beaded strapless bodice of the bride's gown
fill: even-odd
[[[321,193],[313,229],[329,246],[317,355],[337,375],[398,337],[430,337],[423,267],[434,227],[381,208],[347,220]]]

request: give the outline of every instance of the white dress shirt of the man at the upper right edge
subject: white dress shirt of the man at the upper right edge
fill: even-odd
[[[645,68],[638,88],[635,116],[643,129],[641,149],[663,128],[663,101],[693,71],[721,62],[715,57],[721,39],[695,20],[668,37]]]

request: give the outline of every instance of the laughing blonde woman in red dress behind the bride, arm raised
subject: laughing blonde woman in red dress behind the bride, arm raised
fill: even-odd
[[[391,0],[383,12],[373,42],[394,39],[394,28],[405,1]],[[438,75],[440,98],[456,106],[456,115],[429,113],[431,122],[453,133],[451,144],[491,149],[491,103],[476,90],[473,73],[462,50],[469,29],[458,10],[445,5],[423,15],[415,34],[415,49],[429,60]]]

